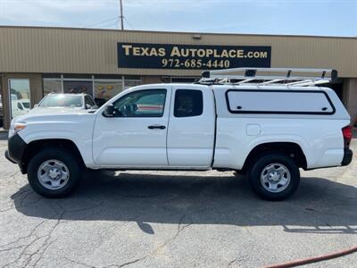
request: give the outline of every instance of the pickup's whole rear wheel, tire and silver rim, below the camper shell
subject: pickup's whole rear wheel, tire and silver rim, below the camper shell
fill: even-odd
[[[283,200],[293,195],[300,184],[296,163],[287,155],[262,155],[249,171],[253,191],[266,200]]]

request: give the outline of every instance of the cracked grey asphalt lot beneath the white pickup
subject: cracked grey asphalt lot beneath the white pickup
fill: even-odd
[[[85,172],[71,197],[50,200],[4,159],[5,135],[0,267],[263,267],[357,246],[356,158],[302,172],[283,202],[260,200],[232,172]]]

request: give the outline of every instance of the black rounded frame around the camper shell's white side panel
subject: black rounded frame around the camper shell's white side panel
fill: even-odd
[[[239,111],[239,110],[232,110],[230,109],[229,104],[229,92],[284,92],[284,93],[320,93],[323,94],[326,99],[328,100],[328,104],[331,106],[331,112],[298,112],[298,111]],[[229,113],[251,113],[251,114],[307,114],[307,115],[332,115],[336,113],[335,105],[333,105],[331,99],[329,98],[328,94],[322,90],[314,90],[314,89],[306,89],[306,90],[286,90],[286,89],[233,89],[229,88],[225,92],[226,96],[226,105]]]

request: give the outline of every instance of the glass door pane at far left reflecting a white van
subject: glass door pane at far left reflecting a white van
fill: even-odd
[[[29,113],[29,80],[9,80],[12,118]]]

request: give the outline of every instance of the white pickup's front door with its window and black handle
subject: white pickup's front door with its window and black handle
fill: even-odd
[[[94,162],[104,167],[168,166],[170,91],[169,87],[129,91],[113,101],[113,117],[98,113],[93,135]]]

